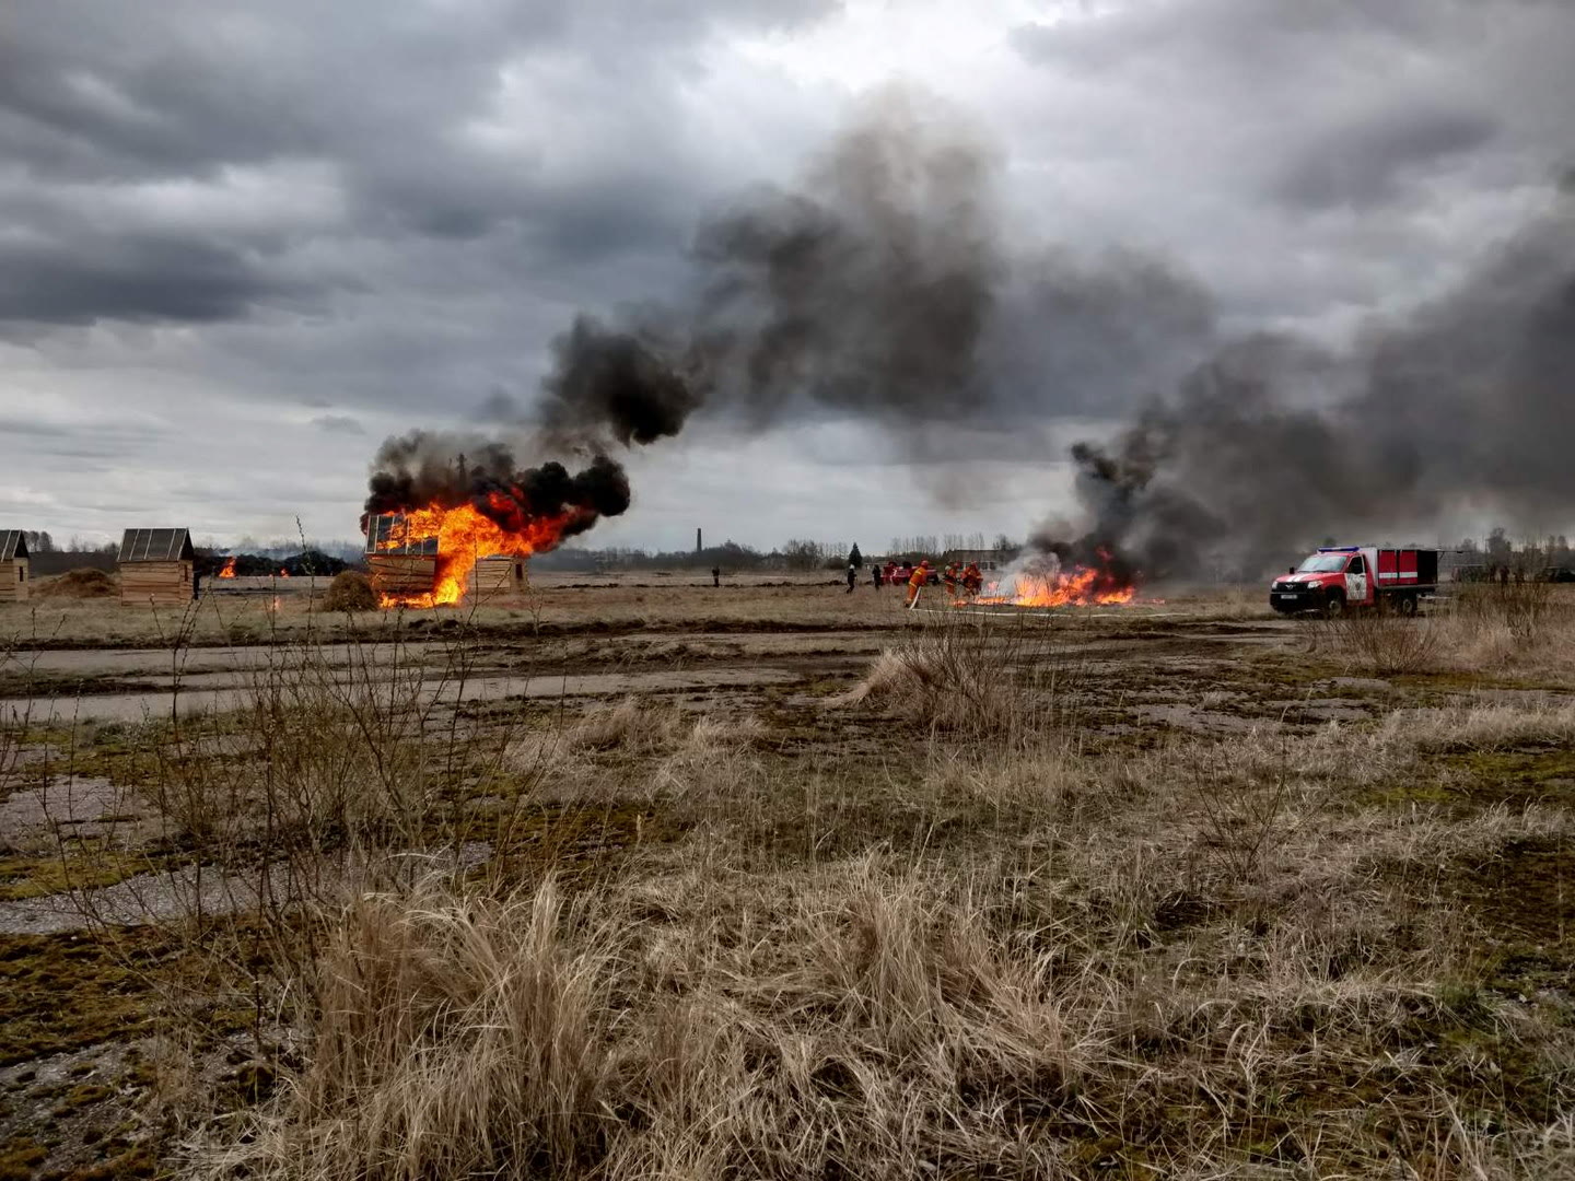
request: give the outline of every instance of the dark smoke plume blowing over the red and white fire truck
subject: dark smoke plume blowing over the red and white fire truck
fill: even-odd
[[[1575,510],[1575,209],[1492,249],[1451,293],[1332,353],[1257,335],[1199,365],[1109,447],[1080,446],[1090,539],[1147,575],[1277,568],[1325,537],[1440,540]],[[1087,539],[1085,539],[1087,540]]]

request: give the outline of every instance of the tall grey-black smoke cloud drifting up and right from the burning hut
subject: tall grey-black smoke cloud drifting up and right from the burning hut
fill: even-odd
[[[702,219],[682,298],[616,326],[576,320],[532,425],[595,452],[677,435],[699,411],[756,430],[838,416],[917,458],[929,428],[1120,413],[1180,376],[1211,337],[1208,294],[1131,252],[1008,244],[999,165],[942,104],[879,96],[797,189]]]

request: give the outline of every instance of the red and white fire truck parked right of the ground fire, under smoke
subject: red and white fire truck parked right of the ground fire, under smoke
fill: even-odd
[[[1414,616],[1418,602],[1436,592],[1436,550],[1331,545],[1276,578],[1269,606],[1285,614],[1337,616],[1351,608],[1383,608]]]

